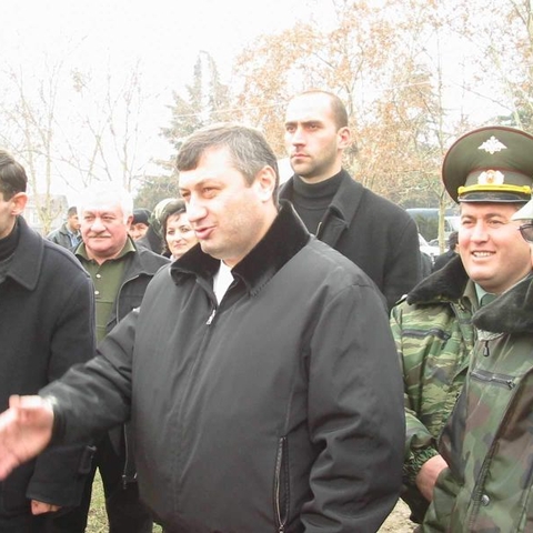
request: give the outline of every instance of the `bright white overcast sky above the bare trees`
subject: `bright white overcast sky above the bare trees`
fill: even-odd
[[[171,92],[192,81],[201,50],[230,81],[232,59],[262,33],[292,27],[320,11],[330,0],[13,0],[2,2],[0,61],[31,77],[42,78],[44,58],[115,77],[139,62],[143,101],[142,130],[149,140],[143,159],[162,159],[171,147],[159,135],[169,125]],[[125,76],[125,74],[124,74]]]

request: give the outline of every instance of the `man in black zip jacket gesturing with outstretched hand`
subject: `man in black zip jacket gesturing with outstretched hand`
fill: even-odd
[[[104,356],[12,399],[0,477],[53,420],[76,441],[131,415],[141,496],[167,533],[378,531],[404,439],[383,296],[279,205],[255,130],[197,130],[177,164],[199,244],[158,272]]]

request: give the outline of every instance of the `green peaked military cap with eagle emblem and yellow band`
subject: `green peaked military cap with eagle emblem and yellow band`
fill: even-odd
[[[444,157],[442,180],[455,202],[527,202],[533,135],[504,125],[470,131]]]

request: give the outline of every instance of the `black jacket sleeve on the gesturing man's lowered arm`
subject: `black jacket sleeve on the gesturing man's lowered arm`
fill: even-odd
[[[309,429],[320,450],[306,533],[378,531],[401,486],[402,383],[386,311],[373,288],[352,285],[321,310],[311,341]]]

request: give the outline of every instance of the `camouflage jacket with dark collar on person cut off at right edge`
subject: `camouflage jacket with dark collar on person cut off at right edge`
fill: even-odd
[[[473,318],[479,341],[439,450],[424,532],[533,531],[533,279]]]

